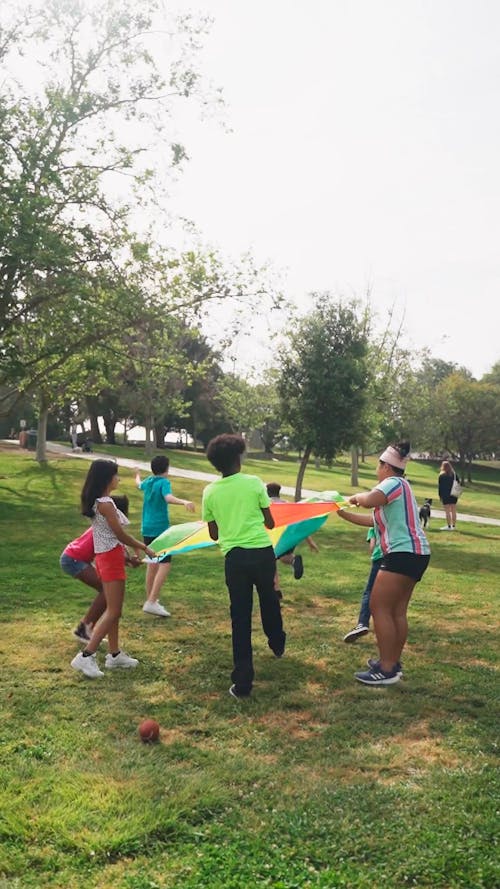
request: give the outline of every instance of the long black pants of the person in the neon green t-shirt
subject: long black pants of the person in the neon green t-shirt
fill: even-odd
[[[236,691],[249,694],[254,677],[252,661],[253,588],[257,589],[262,628],[269,648],[281,655],[285,649],[281,608],[274,589],[276,558],[272,546],[263,549],[235,547],[226,555],[226,584],[231,601],[233,662]]]

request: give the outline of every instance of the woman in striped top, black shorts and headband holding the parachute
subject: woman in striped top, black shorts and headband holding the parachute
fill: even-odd
[[[407,441],[389,445],[378,462],[378,484],[349,498],[354,506],[373,508],[383,555],[370,599],[379,659],[370,658],[369,669],[355,674],[365,685],[392,685],[401,679],[408,603],[430,559],[417,502],[404,478],[409,453]]]

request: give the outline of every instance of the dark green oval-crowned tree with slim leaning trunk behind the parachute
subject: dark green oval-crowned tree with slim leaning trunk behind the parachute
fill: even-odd
[[[297,322],[280,362],[278,391],[294,438],[303,448],[295,497],[311,453],[332,460],[359,441],[368,382],[367,319],[356,302],[329,293]]]

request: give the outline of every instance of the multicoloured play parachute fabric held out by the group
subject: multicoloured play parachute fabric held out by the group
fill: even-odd
[[[347,501],[337,491],[325,491],[319,497],[300,503],[272,503],[271,514],[275,526],[268,534],[276,558],[318,531],[330,513],[345,505]],[[206,522],[184,522],[172,525],[150,546],[157,553],[157,560],[161,561],[165,556],[215,546],[215,541],[208,533]]]

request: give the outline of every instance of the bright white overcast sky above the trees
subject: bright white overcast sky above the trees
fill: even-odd
[[[500,3],[177,0],[214,18],[228,134],[190,123],[174,206],[287,291],[396,303],[414,347],[500,360]]]

